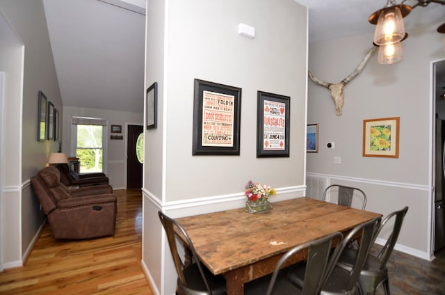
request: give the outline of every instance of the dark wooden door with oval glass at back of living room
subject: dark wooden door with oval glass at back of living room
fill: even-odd
[[[143,165],[136,155],[136,141],[143,132],[143,126],[128,125],[127,141],[127,189],[142,187]]]

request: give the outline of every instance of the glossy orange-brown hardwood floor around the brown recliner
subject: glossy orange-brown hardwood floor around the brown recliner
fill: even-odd
[[[148,294],[140,266],[142,194],[116,190],[118,216],[113,237],[56,240],[49,225],[24,267],[0,273],[0,294]]]

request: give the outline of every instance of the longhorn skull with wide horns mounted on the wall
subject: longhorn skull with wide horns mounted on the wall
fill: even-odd
[[[346,84],[348,84],[352,79],[354,79],[355,76],[357,76],[357,74],[360,74],[360,72],[362,72],[364,66],[369,61],[369,58],[371,57],[375,49],[377,49],[377,46],[373,46],[371,49],[369,49],[368,53],[362,59],[359,65],[357,65],[355,70],[353,70],[353,72],[350,73],[348,77],[341,80],[341,82],[337,84],[321,81],[320,79],[315,77],[314,74],[312,74],[312,72],[310,71],[307,73],[309,75],[309,78],[314,83],[316,83],[319,86],[323,86],[331,91],[331,97],[332,99],[334,99],[335,111],[337,112],[337,115],[341,115],[341,113],[343,112],[343,104],[344,104],[343,87],[346,86]]]

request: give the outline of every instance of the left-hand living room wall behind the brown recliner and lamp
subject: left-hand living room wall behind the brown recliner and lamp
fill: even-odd
[[[47,163],[57,150],[54,141],[37,141],[38,91],[47,95],[56,109],[61,109],[60,91],[52,58],[51,46],[42,1],[0,1],[0,10],[17,35],[20,45],[1,50],[2,66],[6,67],[5,121],[8,138],[1,159],[3,178],[3,219],[8,232],[3,241],[6,267],[19,266],[31,249],[44,214],[33,195],[29,178]],[[4,35],[0,35],[0,43]],[[24,45],[24,49],[17,49]],[[0,62],[0,63],[1,63]],[[3,246],[3,245],[1,245]]]

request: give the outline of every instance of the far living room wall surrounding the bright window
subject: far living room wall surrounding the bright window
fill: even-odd
[[[143,89],[140,90],[140,99],[143,99]],[[108,121],[108,136],[107,136],[107,159],[106,161],[106,175],[113,189],[127,188],[127,130],[126,123],[133,125],[143,124],[143,113],[133,113],[128,111],[111,111],[104,109],[88,109],[79,108],[76,106],[63,107],[63,152],[66,152],[68,157],[75,157],[75,154],[70,154],[71,146],[71,127],[72,117],[92,117],[102,118]],[[111,140],[111,125],[122,126],[122,140]],[[118,134],[113,134],[118,135]]]

